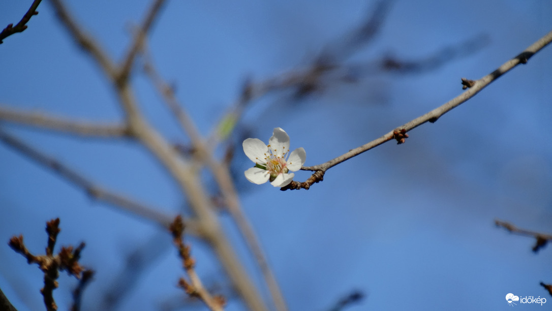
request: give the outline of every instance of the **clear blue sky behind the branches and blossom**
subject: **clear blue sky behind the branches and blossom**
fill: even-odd
[[[29,3],[0,4],[0,25],[16,22]],[[147,1],[71,4],[79,22],[116,60]],[[158,71],[176,86],[207,135],[240,95],[245,79],[308,66],[329,42],[363,20],[372,2],[172,1],[148,41]],[[0,45],[0,104],[68,117],[117,121],[122,114],[99,68],[57,22],[49,2],[29,29]],[[460,78],[477,79],[552,29],[548,1],[396,1],[376,39],[349,63],[382,55],[417,60],[479,35],[487,44],[422,73],[374,73],[357,83],[331,83],[299,100],[290,92],[254,101],[241,128],[268,141],[274,127],[304,147],[305,165],[336,157],[454,98]],[[358,289],[368,295],[349,310],[507,309],[507,293],[550,298],[550,246],[533,254],[530,238],[493,226],[495,218],[552,232],[552,47],[491,84],[475,98],[411,131],[405,144],[384,144],[328,170],[309,191],[281,192],[243,178],[251,166],[236,151],[243,210],[263,243],[290,310],[326,310]],[[187,142],[144,74],[132,83],[148,121],[169,140]],[[79,139],[2,124],[98,183],[181,211],[184,198],[144,148],[129,141]],[[237,146],[241,145],[234,138]],[[75,186],[0,144],[0,240],[23,234],[44,249],[44,224],[61,218],[59,245],[86,241],[82,262],[97,271],[84,297],[88,309],[145,240],[157,259],[140,275],[120,310],[159,309],[179,294],[183,274],[169,236],[155,225],[88,199]],[[299,172],[298,180],[308,174]],[[207,182],[208,183],[208,182]],[[255,273],[230,219],[229,237]],[[210,250],[191,240],[198,273],[224,286]],[[6,244],[0,288],[20,311],[43,308],[42,275]],[[261,277],[256,275],[256,281]],[[63,275],[55,297],[71,303],[75,280]],[[263,288],[263,287],[261,287]],[[12,298],[13,297],[13,298]],[[243,305],[231,301],[229,310]],[[517,305],[527,309],[533,306]],[[540,308],[540,307],[539,307]],[[545,307],[543,307],[544,309]],[[198,308],[200,309],[200,308]]]

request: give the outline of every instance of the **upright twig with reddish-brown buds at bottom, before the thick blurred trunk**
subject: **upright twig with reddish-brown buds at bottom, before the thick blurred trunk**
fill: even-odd
[[[184,245],[183,234],[184,234],[184,223],[182,222],[182,217],[177,216],[174,218],[174,222],[171,223],[171,234],[173,236],[174,246],[178,249],[178,255],[182,260],[182,267],[186,271],[190,281],[186,281],[185,278],[180,278],[178,285],[184,289],[184,291],[191,297],[197,297],[201,299],[207,305],[210,310],[213,311],[222,311],[224,310],[224,305],[226,300],[222,296],[211,296],[211,294],[203,287],[199,276],[195,272],[195,260],[190,255],[190,246]]]

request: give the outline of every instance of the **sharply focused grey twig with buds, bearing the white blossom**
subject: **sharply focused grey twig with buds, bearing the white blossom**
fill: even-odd
[[[440,116],[446,114],[448,111],[458,107],[468,99],[472,98],[475,94],[479,93],[487,85],[491,84],[493,81],[495,81],[500,76],[502,76],[502,74],[505,74],[506,72],[510,71],[512,68],[516,67],[521,63],[522,64],[527,63],[530,57],[532,57],[535,53],[543,49],[551,41],[552,41],[552,31],[544,35],[534,44],[530,45],[525,51],[523,51],[516,57],[512,58],[506,63],[503,63],[503,65],[498,67],[498,69],[496,69],[495,71],[491,72],[490,74],[487,74],[487,76],[482,77],[476,81],[463,78],[462,84],[464,85],[464,89],[467,88],[468,90],[466,90],[464,93],[460,94],[456,98],[448,101],[447,103],[443,104],[442,106],[439,106],[436,109],[433,109],[432,111],[427,112],[426,114],[420,117],[417,117],[416,119],[410,122],[407,122],[402,126],[395,128],[395,130],[392,130],[389,133],[386,133],[384,136],[381,136],[380,138],[377,138],[374,141],[366,143],[363,146],[354,148],[351,151],[344,153],[335,159],[331,159],[328,162],[315,165],[312,167],[302,167],[301,168],[302,170],[315,171],[315,173],[312,174],[311,177],[307,179],[305,182],[300,183],[298,181],[292,181],[289,185],[283,187],[281,190],[309,189],[309,187],[312,184],[322,181],[323,175],[326,173],[328,169],[334,167],[339,163],[342,163],[348,159],[356,157],[357,155],[364,153],[390,140],[395,139],[397,140],[397,143],[403,143],[404,142],[403,138],[408,137],[408,136],[405,136],[406,132],[426,122],[431,122],[431,123],[436,122]]]

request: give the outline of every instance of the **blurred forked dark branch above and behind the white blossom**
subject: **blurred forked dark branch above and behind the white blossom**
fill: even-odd
[[[487,36],[479,35],[460,44],[445,46],[427,57],[410,61],[385,55],[380,60],[373,62],[344,63],[355,52],[355,49],[365,46],[374,39],[384,22],[391,3],[392,1],[378,2],[368,20],[350,34],[343,35],[344,39],[340,37],[335,40],[333,45],[336,46],[333,49],[332,45],[325,47],[311,65],[278,74],[278,76],[257,83],[247,80],[243,84],[240,97],[230,105],[230,110],[219,121],[215,131],[211,133],[209,138],[210,148],[214,148],[213,146],[218,142],[230,136],[243,112],[252,101],[269,93],[295,89],[295,95],[301,97],[320,92],[320,90],[327,88],[330,82],[356,82],[364,76],[381,73],[382,71],[397,73],[430,71],[452,60],[470,55],[481,49],[489,40]],[[361,35],[362,31],[365,32],[365,35]],[[352,38],[357,38],[360,42],[354,44]]]

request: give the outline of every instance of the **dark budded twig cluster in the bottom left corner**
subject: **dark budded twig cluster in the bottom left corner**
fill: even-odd
[[[57,278],[59,271],[67,271],[69,275],[75,276],[77,279],[82,277],[84,267],[78,260],[81,258],[81,251],[84,248],[84,243],[79,244],[76,248],[67,246],[61,248],[57,255],[54,255],[54,245],[56,244],[57,234],[60,232],[60,218],[52,219],[46,222],[46,232],[48,233],[48,246],[46,255],[33,255],[25,247],[23,243],[23,235],[13,236],[9,239],[9,246],[17,253],[22,254],[29,264],[38,264],[40,270],[44,272],[44,287],[40,290],[44,297],[46,310],[57,310],[56,302],[54,301],[54,289],[57,288]]]

